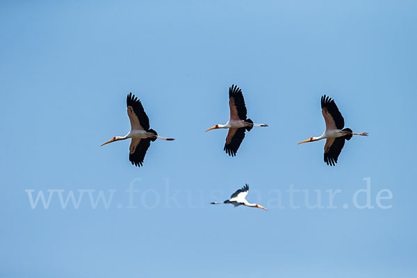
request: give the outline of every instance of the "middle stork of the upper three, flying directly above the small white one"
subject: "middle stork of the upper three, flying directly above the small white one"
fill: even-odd
[[[268,126],[268,124],[254,124],[252,120],[247,118],[245,99],[243,99],[242,90],[237,85],[231,85],[229,88],[229,107],[229,122],[226,124],[216,124],[210,129],[207,129],[206,132],[212,129],[229,129],[223,150],[229,156],[236,156],[240,143],[245,138],[245,131],[250,131],[254,126]]]

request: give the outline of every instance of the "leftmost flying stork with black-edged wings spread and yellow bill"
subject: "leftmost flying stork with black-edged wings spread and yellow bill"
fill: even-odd
[[[151,141],[154,142],[156,139],[174,140],[174,138],[158,136],[158,133],[156,133],[154,129],[150,129],[149,118],[143,109],[142,103],[137,97],[135,97],[135,95],[132,95],[132,93],[127,95],[126,104],[127,115],[129,116],[129,120],[131,122],[131,131],[129,131],[129,133],[125,136],[115,136],[101,146],[111,142],[131,138],[129,161],[131,161],[132,165],[140,167],[143,164],[145,154],[151,145]]]

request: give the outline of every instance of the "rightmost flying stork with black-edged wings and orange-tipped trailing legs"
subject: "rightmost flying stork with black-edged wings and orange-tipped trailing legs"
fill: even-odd
[[[352,129],[346,128],[345,120],[342,114],[338,111],[334,100],[326,95],[321,97],[322,114],[325,117],[326,130],[322,136],[311,137],[305,141],[299,142],[298,144],[305,142],[313,142],[322,139],[327,139],[325,144],[325,163],[330,166],[334,166],[337,163],[339,154],[345,145],[345,140],[350,140],[354,135],[368,136],[368,133],[353,133]]]

